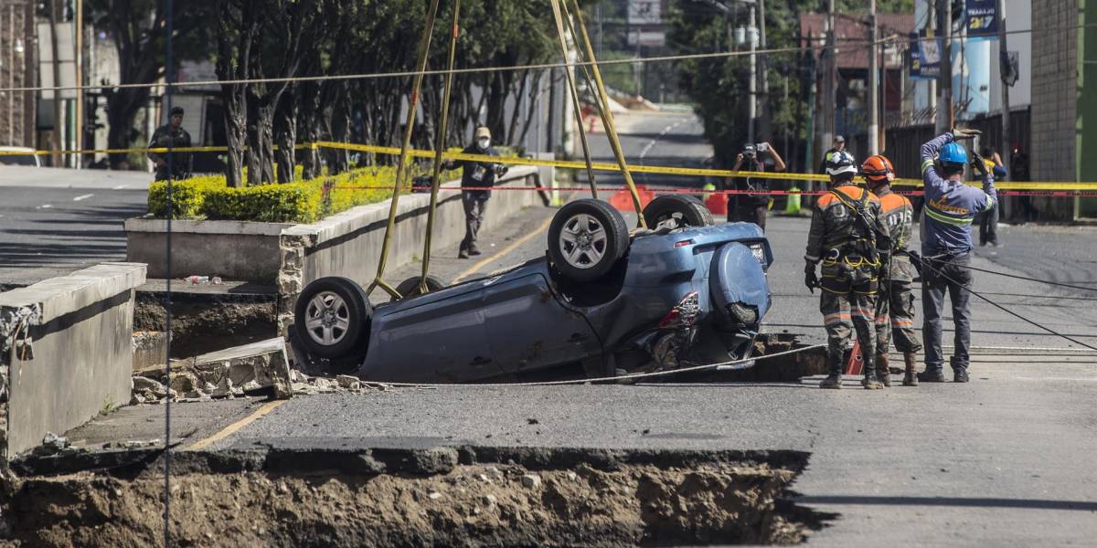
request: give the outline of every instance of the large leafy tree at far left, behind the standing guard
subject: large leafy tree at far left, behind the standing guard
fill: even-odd
[[[111,88],[111,83],[154,83],[165,76],[167,13],[160,0],[87,0],[92,25],[110,31],[118,53],[118,81],[101,82],[106,96],[106,145],[129,148],[140,135],[134,118],[148,104],[150,88]],[[207,2],[176,2],[172,12],[173,48],[177,59],[204,57],[214,16]],[[125,155],[111,155],[118,169]]]

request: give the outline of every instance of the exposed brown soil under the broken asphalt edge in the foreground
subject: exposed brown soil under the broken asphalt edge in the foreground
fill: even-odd
[[[362,470],[383,466],[361,458]],[[264,471],[179,473],[172,544],[783,545],[808,530],[793,517],[803,511],[778,502],[800,465],[686,458],[676,467],[657,458],[531,469],[509,460],[452,463],[433,473],[297,475],[270,471],[268,457]],[[163,478],[155,465],[147,470],[22,480],[5,504],[9,546],[161,544]]]

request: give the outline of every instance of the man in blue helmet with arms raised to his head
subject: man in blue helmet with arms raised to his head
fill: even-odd
[[[972,169],[983,187],[964,183],[968,151],[957,140],[971,139],[980,132],[953,129],[921,146],[921,178],[926,185],[925,218],[921,222],[921,301],[923,344],[926,370],[918,374],[924,383],[945,381],[941,333],[945,294],[952,304],[953,340],[952,381],[969,380],[971,347],[971,225],[975,216],[995,207],[998,201],[994,175],[977,153],[972,153]]]

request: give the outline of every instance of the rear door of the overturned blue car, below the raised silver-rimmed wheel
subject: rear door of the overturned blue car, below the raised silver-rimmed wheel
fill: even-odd
[[[532,370],[601,352],[586,318],[564,308],[540,273],[499,281],[484,293],[491,355],[506,373]]]

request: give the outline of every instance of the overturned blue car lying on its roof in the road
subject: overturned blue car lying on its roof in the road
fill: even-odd
[[[714,226],[697,199],[664,195],[630,232],[606,202],[562,207],[547,253],[443,287],[420,278],[372,307],[341,277],[301,293],[298,355],[366,380],[466,383],[581,364],[589,377],[750,356],[770,307],[772,252],[757,225]]]

